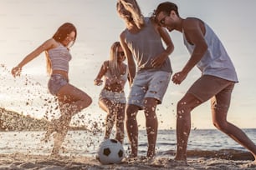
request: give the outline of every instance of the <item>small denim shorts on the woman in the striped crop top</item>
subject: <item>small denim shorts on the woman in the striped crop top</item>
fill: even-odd
[[[69,83],[69,80],[64,76],[60,74],[52,74],[48,82],[49,92],[55,96],[59,92],[59,89],[67,83]]]

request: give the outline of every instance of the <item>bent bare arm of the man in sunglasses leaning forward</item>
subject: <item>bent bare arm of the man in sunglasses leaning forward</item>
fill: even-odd
[[[187,77],[188,72],[197,65],[197,62],[202,59],[207,51],[207,42],[204,39],[204,26],[200,20],[194,18],[184,20],[183,29],[187,41],[194,44],[195,48],[182,71],[177,72],[172,77],[172,81],[176,84],[180,84]]]

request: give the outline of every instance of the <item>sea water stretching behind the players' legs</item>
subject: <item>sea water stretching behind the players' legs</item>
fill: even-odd
[[[256,129],[243,129],[243,131],[256,143]],[[43,136],[44,132],[1,132],[0,154],[49,155],[53,140],[44,143],[41,141]],[[102,139],[102,133],[69,131],[60,153],[64,156],[95,157]],[[124,148],[126,155],[128,155],[130,149],[127,138],[125,138]],[[139,156],[146,156],[146,149],[146,131],[141,130],[139,133]],[[192,130],[187,150],[188,158],[218,157],[233,160],[253,160],[253,157],[245,148],[234,142],[233,139],[228,138],[227,135],[214,129]],[[173,158],[175,152],[175,130],[159,130],[156,156]]]

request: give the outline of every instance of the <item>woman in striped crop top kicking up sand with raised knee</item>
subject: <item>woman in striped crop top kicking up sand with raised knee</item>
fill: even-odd
[[[54,156],[58,155],[59,148],[64,142],[71,118],[92,102],[89,95],[69,83],[69,61],[71,60],[69,47],[74,44],[76,36],[77,32],[74,25],[64,23],[53,37],[24,57],[23,61],[17,67],[13,67],[12,70],[14,77],[20,76],[24,65],[38,57],[42,52],[46,53],[47,71],[50,75],[49,92],[58,98],[61,112],[59,119],[52,121],[44,137],[44,140],[47,141],[51,133],[57,132],[54,136],[52,151]]]

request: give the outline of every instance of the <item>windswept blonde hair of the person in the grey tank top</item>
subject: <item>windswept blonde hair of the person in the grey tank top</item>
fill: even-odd
[[[119,0],[116,4],[116,7],[124,7],[125,10],[131,14],[130,20],[136,24],[137,28],[140,28],[140,29],[143,28],[144,16],[142,15],[141,8],[139,7],[136,0]],[[120,14],[123,14],[123,13],[120,13]]]

